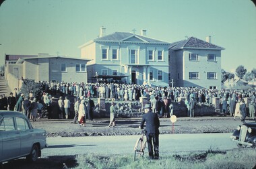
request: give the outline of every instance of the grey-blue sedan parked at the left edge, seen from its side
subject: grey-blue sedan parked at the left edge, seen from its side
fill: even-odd
[[[44,129],[34,129],[20,112],[0,111],[0,164],[24,156],[34,162],[45,147]]]

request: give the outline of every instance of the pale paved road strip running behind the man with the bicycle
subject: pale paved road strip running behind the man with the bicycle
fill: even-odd
[[[197,133],[160,135],[160,154],[197,152],[207,150],[234,150],[232,133]],[[76,154],[133,154],[139,135],[104,137],[47,137],[49,148],[42,156],[68,156]],[[148,152],[148,150],[146,150]]]

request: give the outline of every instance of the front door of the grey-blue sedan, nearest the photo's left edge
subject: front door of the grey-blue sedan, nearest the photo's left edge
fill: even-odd
[[[3,117],[1,126],[2,156],[1,160],[9,160],[20,156],[20,131],[15,129],[14,117]]]

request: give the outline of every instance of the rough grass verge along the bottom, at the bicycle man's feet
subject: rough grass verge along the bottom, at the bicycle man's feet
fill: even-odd
[[[160,160],[149,160],[145,156],[135,162],[133,154],[84,154],[76,156],[75,159],[75,168],[256,168],[255,149],[162,154]]]

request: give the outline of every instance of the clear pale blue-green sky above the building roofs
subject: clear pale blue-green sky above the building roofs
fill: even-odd
[[[132,32],[165,42],[185,36],[222,46],[222,68],[256,68],[256,7],[250,0],[6,0],[0,7],[4,54],[80,57],[78,46],[106,34]]]

